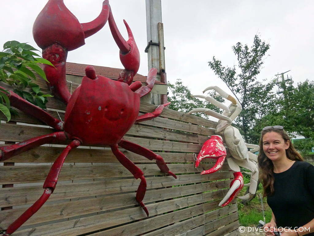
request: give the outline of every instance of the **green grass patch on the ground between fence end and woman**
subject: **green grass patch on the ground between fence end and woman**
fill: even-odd
[[[243,174],[244,183],[249,183],[250,176]],[[246,188],[244,187],[239,196],[243,196],[245,194]],[[258,190],[256,192],[256,197],[252,199],[247,205],[241,204],[241,199],[237,199],[238,210],[239,210],[239,222],[241,226],[257,226],[260,220],[263,220],[263,211],[261,200],[259,199],[259,194],[263,194],[262,184],[258,186]],[[271,219],[271,209],[267,204],[266,198],[263,198],[264,205],[264,213],[266,223],[270,222]]]

